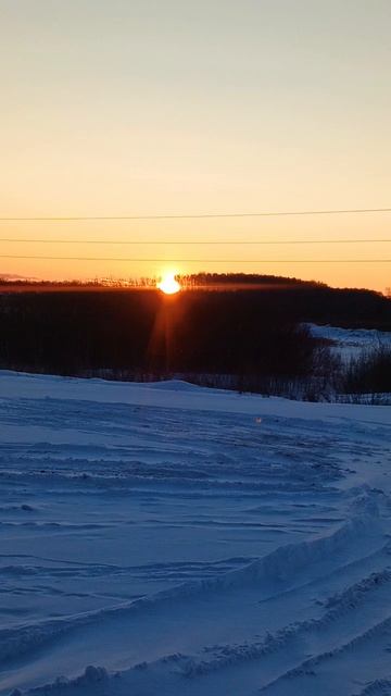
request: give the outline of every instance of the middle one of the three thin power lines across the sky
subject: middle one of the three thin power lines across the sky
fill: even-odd
[[[12,239],[11,237],[0,238],[0,243],[15,243],[15,244],[88,244],[88,245],[118,245],[118,246],[129,246],[129,245],[186,245],[186,246],[228,246],[228,245],[302,245],[302,244],[390,244],[391,239],[228,239],[228,240],[206,240],[201,241],[199,239],[194,240],[175,240],[175,239],[163,239],[163,240],[138,240],[138,239],[125,239],[124,241],[119,239]]]

